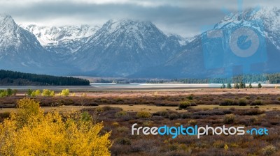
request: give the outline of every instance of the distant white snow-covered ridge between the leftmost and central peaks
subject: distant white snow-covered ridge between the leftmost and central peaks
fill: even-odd
[[[36,26],[22,25],[22,28],[33,33],[41,45],[49,52],[62,56],[77,52],[99,26]]]

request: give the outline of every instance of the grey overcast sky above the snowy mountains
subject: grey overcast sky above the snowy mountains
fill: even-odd
[[[280,6],[279,0],[244,0],[243,9]],[[91,24],[108,20],[151,21],[165,33],[192,37],[204,25],[216,24],[228,10],[238,11],[237,0],[0,0],[0,13],[18,24],[48,26]]]

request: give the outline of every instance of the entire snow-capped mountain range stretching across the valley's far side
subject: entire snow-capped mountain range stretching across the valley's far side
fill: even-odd
[[[215,77],[240,69],[246,74],[255,69],[279,72],[279,23],[278,8],[246,10],[225,16],[193,38],[183,38],[163,33],[152,22],[138,20],[109,20],[103,26],[36,26],[18,25],[10,15],[0,15],[0,68],[38,74],[138,78]],[[252,56],[256,62],[218,54],[228,52],[232,38],[227,34],[233,34],[238,26],[252,29],[263,39],[258,45],[263,54]],[[219,45],[218,39],[205,39],[213,32],[223,33],[223,44]],[[252,44],[246,38],[241,45]],[[208,52],[209,46],[215,50]]]

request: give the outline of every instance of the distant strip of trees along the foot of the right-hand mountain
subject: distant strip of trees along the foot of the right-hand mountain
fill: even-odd
[[[235,84],[239,82],[258,83],[269,82],[269,84],[280,84],[280,73],[263,75],[240,75],[230,78],[210,78],[210,79],[172,79],[172,80],[150,80],[148,84],[181,83],[181,84]]]

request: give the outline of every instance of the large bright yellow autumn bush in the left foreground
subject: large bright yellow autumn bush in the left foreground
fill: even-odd
[[[80,112],[44,114],[38,102],[18,102],[18,114],[0,124],[0,155],[110,155],[110,132]]]

